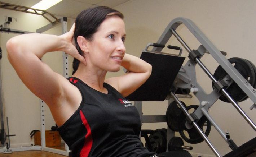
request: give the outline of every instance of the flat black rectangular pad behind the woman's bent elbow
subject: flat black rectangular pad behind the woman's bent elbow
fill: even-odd
[[[140,88],[126,97],[127,100],[164,101],[185,57],[147,51],[142,52],[140,58],[152,65],[152,73]]]

